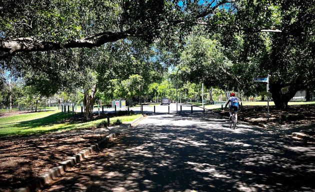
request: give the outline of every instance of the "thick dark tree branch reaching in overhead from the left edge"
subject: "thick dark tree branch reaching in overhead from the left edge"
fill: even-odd
[[[124,39],[128,36],[139,36],[137,30],[127,30],[123,32],[104,31],[85,39],[70,40],[65,43],[61,42],[46,42],[32,38],[17,38],[6,39],[0,38],[0,51],[8,52],[31,52],[31,51],[47,51],[58,50],[63,48],[75,47],[96,47],[106,42],[113,42],[119,39]],[[6,56],[6,55],[5,55]]]

